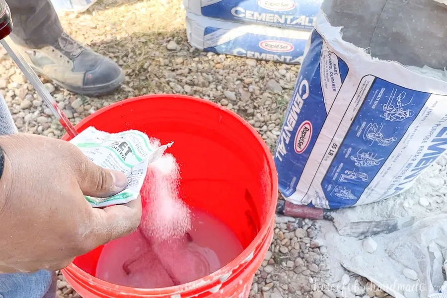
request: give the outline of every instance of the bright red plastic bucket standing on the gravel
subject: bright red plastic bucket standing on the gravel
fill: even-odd
[[[278,180],[272,155],[258,133],[233,112],[189,96],[148,95],[103,108],[76,125],[117,133],[137,129],[169,149],[181,169],[180,192],[236,234],[243,252],[220,270],[188,284],[135,289],[95,278],[102,247],[62,271],[83,298],[246,298],[273,236]],[[68,140],[66,135],[63,138]]]

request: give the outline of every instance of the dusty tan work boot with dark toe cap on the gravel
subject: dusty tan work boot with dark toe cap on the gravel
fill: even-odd
[[[124,80],[124,72],[115,62],[81,46],[66,33],[40,49],[17,47],[36,73],[77,94],[106,94]]]

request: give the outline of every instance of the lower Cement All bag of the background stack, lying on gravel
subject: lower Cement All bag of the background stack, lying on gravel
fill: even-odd
[[[255,33],[256,32],[256,33]],[[308,31],[224,22],[188,13],[186,34],[191,46],[217,54],[300,64]]]

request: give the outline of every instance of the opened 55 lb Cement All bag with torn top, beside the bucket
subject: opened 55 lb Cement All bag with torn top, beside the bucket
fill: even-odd
[[[344,208],[408,189],[447,149],[447,83],[371,58],[317,17],[275,152],[288,201]]]

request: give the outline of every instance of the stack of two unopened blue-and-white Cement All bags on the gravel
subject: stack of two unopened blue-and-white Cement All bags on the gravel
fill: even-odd
[[[323,0],[183,0],[200,50],[300,64]]]

